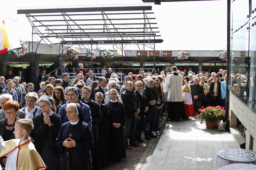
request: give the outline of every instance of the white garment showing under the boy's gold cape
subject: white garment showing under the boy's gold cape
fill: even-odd
[[[28,140],[28,138],[26,140]],[[25,143],[26,140],[19,142],[19,144]],[[16,167],[18,152],[19,152],[19,149],[18,147],[16,147],[12,152],[6,155],[7,159],[6,159],[5,169],[16,169],[16,168],[18,169],[18,167]]]

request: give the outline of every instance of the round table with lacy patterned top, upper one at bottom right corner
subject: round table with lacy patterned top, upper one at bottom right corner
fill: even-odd
[[[229,148],[217,152],[214,170],[229,164],[256,164],[256,152],[247,149]]]

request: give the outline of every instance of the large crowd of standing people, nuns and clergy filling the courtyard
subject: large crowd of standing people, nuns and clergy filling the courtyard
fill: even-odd
[[[72,84],[67,70],[62,79],[45,79],[42,70],[38,92],[21,73],[0,77],[0,136],[3,141],[15,139],[16,122],[31,121],[29,137],[22,139],[32,141],[47,169],[101,169],[126,158],[126,149],[160,136],[159,121],[166,114],[170,121],[181,121],[200,114],[202,107],[225,107],[223,69],[215,73],[200,68],[195,74],[191,68],[187,73],[173,66],[157,68],[154,75],[133,69],[121,84],[111,68],[87,72],[83,64],[79,67]],[[96,81],[97,73],[105,76]],[[233,93],[241,95],[243,74],[233,77]],[[11,165],[11,156],[3,155],[2,167]]]

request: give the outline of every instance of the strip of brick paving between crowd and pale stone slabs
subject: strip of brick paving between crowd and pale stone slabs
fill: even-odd
[[[160,134],[162,134],[167,121],[160,121],[159,128]],[[161,136],[153,138],[151,140],[145,140],[145,143],[140,143],[140,146],[131,146],[132,150],[126,150],[126,159],[120,161],[114,161],[108,166],[101,167],[102,170],[145,170],[148,162],[154,153],[156,145]],[[144,140],[144,133],[141,134],[142,140]]]

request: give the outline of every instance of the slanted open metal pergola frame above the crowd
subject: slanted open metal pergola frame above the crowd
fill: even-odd
[[[151,10],[148,5],[18,10],[18,14],[26,14],[32,26],[33,81],[36,81],[35,55],[41,42],[59,47],[62,65],[63,55],[67,55],[63,53],[63,45],[88,46],[92,51],[95,44],[119,44],[117,48],[123,53],[123,44],[137,44],[139,51],[145,47],[155,51],[155,43],[163,40],[158,39],[160,32]],[[145,65],[142,55],[141,65]]]

